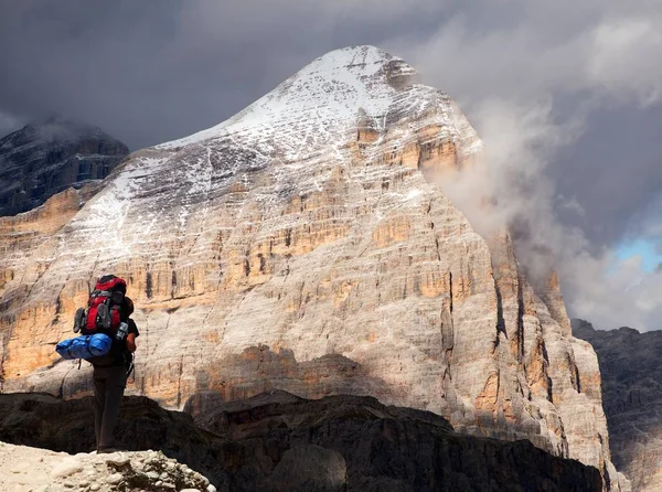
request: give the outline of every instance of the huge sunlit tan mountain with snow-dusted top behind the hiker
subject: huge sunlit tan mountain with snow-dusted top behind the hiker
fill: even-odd
[[[488,243],[426,180],[481,149],[402,60],[316,60],[229,120],[134,153],[60,232],[2,258],[4,391],[88,391],[53,345],[115,272],[138,307],[137,393],[373,395],[527,438],[618,488],[599,391],[579,384],[599,378],[595,354],[557,286],[535,292],[509,235]]]

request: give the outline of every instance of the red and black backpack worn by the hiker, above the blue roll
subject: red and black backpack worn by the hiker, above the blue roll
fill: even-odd
[[[127,282],[114,275],[100,277],[87,300],[87,310],[78,308],[74,318],[74,332],[84,335],[106,333],[114,336],[122,320],[122,302]]]

